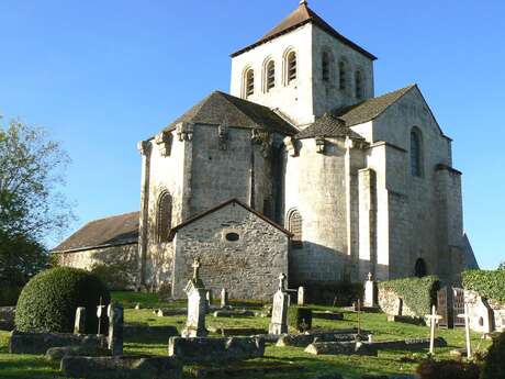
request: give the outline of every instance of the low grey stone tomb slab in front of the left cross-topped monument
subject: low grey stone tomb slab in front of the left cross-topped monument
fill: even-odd
[[[171,337],[168,343],[168,355],[183,364],[223,364],[260,358],[263,354],[265,339],[259,337]]]

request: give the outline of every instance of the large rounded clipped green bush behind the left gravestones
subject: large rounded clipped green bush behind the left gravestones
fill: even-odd
[[[22,332],[70,333],[76,309],[85,306],[86,332],[97,333],[100,298],[104,304],[111,299],[106,287],[91,272],[71,267],[42,271],[21,292],[15,312],[16,328]],[[103,327],[105,319],[102,319]]]

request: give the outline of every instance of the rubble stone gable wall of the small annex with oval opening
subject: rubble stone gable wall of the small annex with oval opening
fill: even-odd
[[[227,233],[239,235],[226,241]],[[242,205],[231,203],[177,232],[173,297],[186,298],[192,263],[201,261],[201,278],[214,294],[222,288],[235,299],[270,300],[280,272],[288,272],[289,237]]]

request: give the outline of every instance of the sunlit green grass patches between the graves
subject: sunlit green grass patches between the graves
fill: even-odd
[[[144,322],[149,325],[176,325],[182,330],[184,316],[157,317],[152,310],[145,309],[136,311],[133,308],[137,302],[143,306],[149,308],[180,308],[184,302],[162,303],[156,296],[146,293],[127,293],[115,292],[113,298],[125,305],[125,322]],[[233,302],[232,302],[233,303]],[[315,310],[335,310],[329,306],[311,306]],[[315,327],[322,328],[349,328],[357,325],[357,314],[345,312],[344,321],[314,320]],[[240,317],[240,319],[221,319],[209,315],[206,319],[207,326],[248,326],[268,328],[269,319],[261,317]],[[420,338],[429,336],[429,328],[426,326],[415,326],[400,323],[389,323],[385,314],[367,313],[361,315],[362,327],[373,333],[374,341]],[[456,347],[464,346],[463,330],[438,330],[437,334],[446,338],[447,348],[438,348],[437,357],[449,358],[449,352]],[[8,332],[0,332],[0,378],[1,379],[65,379],[59,374],[57,366],[48,365],[43,357],[30,355],[9,355],[8,354]],[[473,348],[475,350],[485,350],[490,342],[480,338],[479,334],[472,334]],[[149,354],[167,355],[168,342],[162,338],[131,338],[125,341],[125,354]],[[423,352],[422,352],[423,353]],[[427,353],[426,350],[424,353]],[[325,372],[340,372],[346,379],[361,378],[363,374],[393,375],[393,374],[412,374],[416,364],[404,363],[402,358],[413,356],[414,352],[405,350],[382,350],[378,357],[366,356],[314,356],[304,353],[303,348],[296,347],[276,347],[268,345],[265,357],[254,359],[247,363],[240,363],[238,367],[248,366],[280,366],[292,367],[279,368],[263,376],[271,379],[305,379],[312,378]],[[418,355],[418,354],[417,354]],[[303,368],[300,368],[303,367]],[[298,367],[298,369],[295,369]],[[190,367],[184,367],[184,378],[191,378]],[[235,376],[235,378],[252,379],[258,378],[258,374],[250,376]]]

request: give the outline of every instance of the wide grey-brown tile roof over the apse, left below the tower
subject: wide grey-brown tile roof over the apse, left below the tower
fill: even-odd
[[[212,92],[169,124],[166,130],[175,130],[180,122],[221,125],[225,120],[229,126],[263,129],[287,135],[298,132],[294,126],[269,108],[221,91]]]

